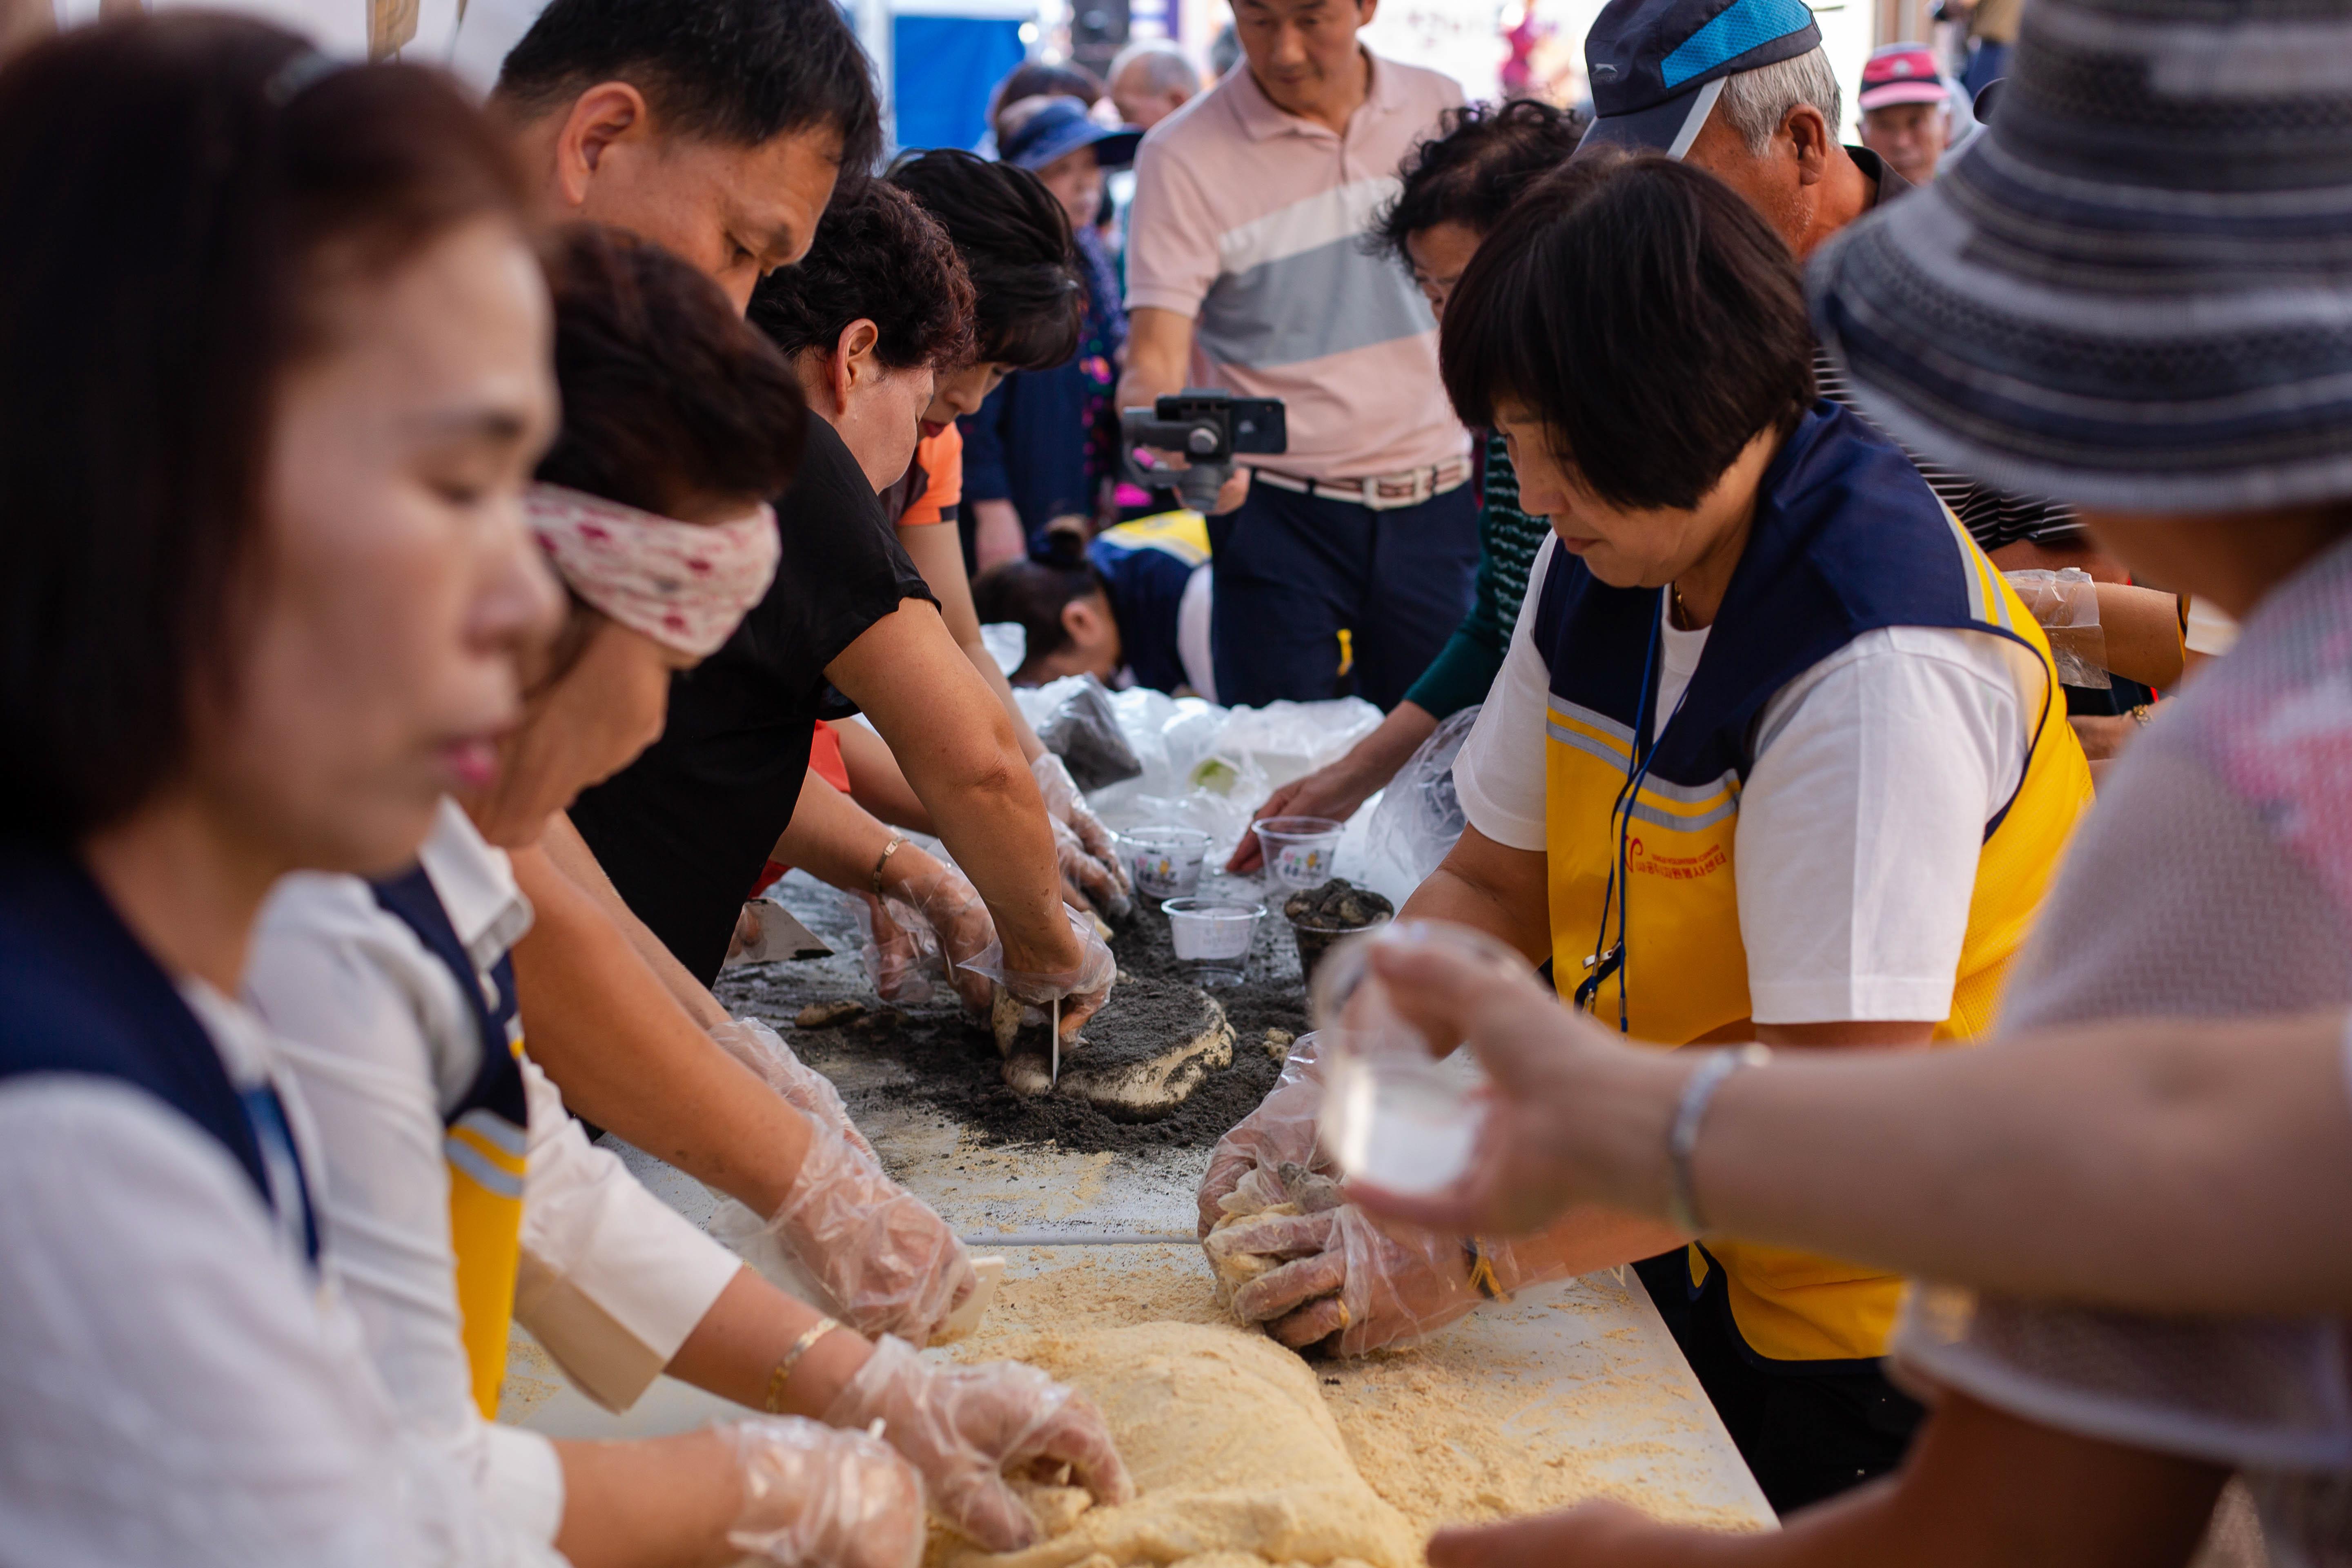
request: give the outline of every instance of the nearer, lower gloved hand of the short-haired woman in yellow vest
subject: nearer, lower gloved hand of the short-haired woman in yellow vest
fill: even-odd
[[[1237,1237],[1244,1227],[1247,1241]],[[1338,1354],[1362,1356],[1418,1340],[1524,1279],[1508,1241],[1482,1239],[1472,1255],[1461,1237],[1385,1225],[1355,1204],[1244,1220],[1218,1234],[1258,1255],[1291,1258],[1232,1293],[1235,1316],[1265,1324],[1291,1349],[1331,1340]]]

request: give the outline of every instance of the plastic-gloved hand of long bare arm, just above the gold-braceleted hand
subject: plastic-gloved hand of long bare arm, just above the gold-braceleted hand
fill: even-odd
[[[948,1222],[826,1126],[809,1126],[809,1154],[767,1232],[863,1335],[929,1345],[978,1288]]]

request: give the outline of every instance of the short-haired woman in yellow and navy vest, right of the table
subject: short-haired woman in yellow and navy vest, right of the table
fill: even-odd
[[[1562,997],[1665,1046],[1983,1032],[2089,769],[2032,616],[1903,454],[1816,400],[1780,240],[1682,165],[1578,160],[1484,242],[1442,353],[1552,541],[1456,762],[1470,827],[1404,914],[1550,959]],[[1312,1095],[1282,1093],[1204,1201],[1296,1143],[1277,1124]],[[1693,1229],[1310,1227],[1242,1307],[1341,1349]],[[1705,1237],[1644,1279],[1776,1507],[1900,1460],[1896,1276]]]

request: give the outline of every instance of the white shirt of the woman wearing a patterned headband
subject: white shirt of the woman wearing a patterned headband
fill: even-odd
[[[506,853],[442,802],[421,858],[468,954],[494,966],[532,924]],[[320,1208],[402,1420],[473,1476],[492,1514],[553,1542],[555,1453],[482,1420],[459,1333],[442,1117],[473,1084],[482,1044],[456,976],[358,877],[299,872],[263,905],[247,997],[320,1128]],[[529,1060],[522,1081],[515,1319],[593,1399],[623,1408],[741,1262],[590,1147]]]

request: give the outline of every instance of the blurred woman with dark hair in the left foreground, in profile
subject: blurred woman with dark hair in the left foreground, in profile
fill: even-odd
[[[553,630],[524,193],[435,75],[174,16],[0,68],[0,1561],[560,1561],[400,1418],[230,1001],[278,877],[489,778]],[[863,1436],[635,1460],[581,1561],[920,1549]]]

